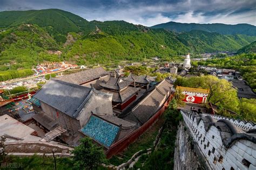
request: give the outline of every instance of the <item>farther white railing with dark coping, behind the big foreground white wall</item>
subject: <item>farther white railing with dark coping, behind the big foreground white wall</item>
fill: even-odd
[[[238,119],[233,119],[230,117],[224,117],[224,116],[220,116],[220,115],[212,115],[212,114],[203,114],[205,116],[211,116],[215,119],[226,119],[228,121],[230,121],[231,123],[233,123],[235,126],[237,126],[238,128],[244,130],[244,131],[248,131],[251,129],[256,129],[256,124],[253,122],[247,122],[247,121],[241,121]]]

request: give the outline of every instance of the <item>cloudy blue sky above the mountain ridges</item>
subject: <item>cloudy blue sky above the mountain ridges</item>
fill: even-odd
[[[179,23],[256,25],[256,0],[0,0],[0,11],[62,9],[86,20],[153,26]]]

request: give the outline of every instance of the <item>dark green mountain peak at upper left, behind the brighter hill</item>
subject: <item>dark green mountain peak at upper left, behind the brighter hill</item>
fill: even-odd
[[[44,27],[57,41],[65,42],[63,35],[84,30],[87,20],[58,9],[0,12],[0,28],[21,24],[36,24]]]

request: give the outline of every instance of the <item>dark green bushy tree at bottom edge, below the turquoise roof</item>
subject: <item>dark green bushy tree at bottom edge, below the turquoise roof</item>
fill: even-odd
[[[92,169],[106,161],[103,148],[93,144],[91,138],[83,138],[80,145],[72,151],[75,166],[78,169]]]

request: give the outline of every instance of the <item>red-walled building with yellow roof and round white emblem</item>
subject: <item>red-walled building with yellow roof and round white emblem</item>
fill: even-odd
[[[207,101],[209,90],[177,86],[177,90],[185,95],[184,102],[201,104]]]

